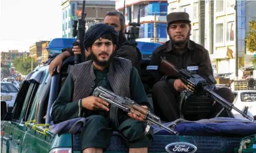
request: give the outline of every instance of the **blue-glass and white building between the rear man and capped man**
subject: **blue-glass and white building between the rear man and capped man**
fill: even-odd
[[[167,15],[167,1],[139,1],[130,0],[115,1],[115,9],[123,13],[123,6],[125,5],[125,24],[128,27],[130,22],[137,23],[138,13],[140,10],[140,29],[138,41],[153,42],[154,37],[156,42],[166,42],[166,15]],[[155,24],[155,25],[154,25]],[[128,29],[127,29],[128,30]]]

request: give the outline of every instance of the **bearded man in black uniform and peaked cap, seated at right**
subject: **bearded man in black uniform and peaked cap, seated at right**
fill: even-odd
[[[207,49],[189,40],[191,21],[188,13],[170,13],[166,19],[167,34],[170,40],[155,49],[150,61],[150,65],[155,66],[155,69],[148,71],[152,73],[153,80],[155,80],[152,89],[155,114],[164,121],[174,121],[180,118],[178,109],[180,93],[188,87],[180,79],[172,76],[169,76],[168,80],[163,80],[164,74],[158,71],[161,58],[166,57],[166,60],[177,66],[178,69],[191,70],[193,68],[206,80],[210,80],[209,76],[213,76],[213,68]],[[234,96],[229,88],[220,88],[216,90],[216,93],[222,95],[227,101],[233,102]],[[213,110],[207,116],[213,117],[221,109],[222,105],[215,102]],[[225,113],[222,112],[221,116],[227,116]],[[194,116],[189,117],[191,118],[187,119],[192,119]]]

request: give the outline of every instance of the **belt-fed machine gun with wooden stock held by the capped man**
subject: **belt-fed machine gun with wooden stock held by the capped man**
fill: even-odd
[[[219,102],[225,109],[231,111],[232,109],[236,110],[238,113],[244,116],[244,118],[253,121],[253,118],[246,113],[242,112],[240,109],[236,108],[232,103],[225,100],[219,94],[215,93],[211,87],[211,84],[207,82],[207,80],[203,79],[203,77],[198,74],[193,74],[191,71],[187,69],[178,70],[175,68],[172,63],[168,62],[166,59],[161,60],[161,66],[159,70],[166,74],[167,76],[174,76],[180,78],[180,80],[188,86],[188,90],[194,94],[202,94],[205,93],[210,98],[213,98],[214,101]],[[216,84],[216,80],[213,76],[210,76],[211,82]]]

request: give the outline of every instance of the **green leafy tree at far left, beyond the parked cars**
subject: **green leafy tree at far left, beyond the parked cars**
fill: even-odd
[[[19,71],[23,75],[27,75],[31,72],[31,57],[15,59],[13,62],[15,70]],[[37,66],[37,63],[33,61],[33,69]]]

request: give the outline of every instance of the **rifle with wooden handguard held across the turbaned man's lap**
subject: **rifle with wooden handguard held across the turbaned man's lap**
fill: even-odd
[[[137,116],[141,117],[145,121],[152,124],[156,124],[157,126],[163,128],[164,130],[167,130],[170,133],[175,133],[175,135],[178,135],[178,132],[170,129],[169,127],[164,126],[160,118],[156,115],[153,115],[150,111],[145,109],[144,107],[141,107],[141,105],[136,104],[133,100],[130,98],[123,98],[122,96],[119,96],[112,91],[107,90],[104,87],[97,87],[93,91],[93,96],[97,96],[98,98],[102,99],[103,101],[108,102],[111,105],[114,105],[115,107],[122,109],[125,112],[134,113]],[[148,127],[149,130],[150,126]]]

